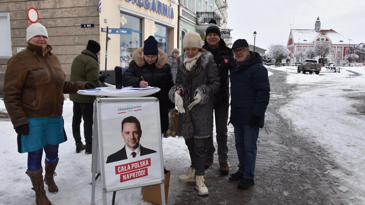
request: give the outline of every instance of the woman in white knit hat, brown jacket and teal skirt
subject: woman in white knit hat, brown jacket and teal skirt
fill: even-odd
[[[64,93],[92,89],[92,82],[65,80],[65,73],[48,45],[48,32],[40,23],[27,28],[27,49],[8,61],[4,76],[4,104],[15,132],[18,152],[28,152],[28,169],[38,205],[51,205],[44,184],[57,193],[54,172],[58,164],[58,145],[67,140],[62,109]],[[43,182],[42,155],[46,153]],[[68,173],[69,174],[69,173]],[[25,194],[28,195],[28,194]]]

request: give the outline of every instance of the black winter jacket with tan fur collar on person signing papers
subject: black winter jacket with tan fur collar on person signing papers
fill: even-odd
[[[168,93],[174,85],[170,66],[166,63],[167,55],[164,51],[158,49],[158,59],[152,65],[145,62],[142,57],[143,47],[137,49],[133,53],[133,61],[124,71],[122,76],[122,84],[124,87],[133,86],[139,88],[139,82],[142,81],[141,76],[148,82],[149,86],[160,88],[160,92],[149,97],[156,97],[160,101],[160,118],[161,132],[165,132],[169,128],[169,109],[175,107],[175,104],[169,100]]]

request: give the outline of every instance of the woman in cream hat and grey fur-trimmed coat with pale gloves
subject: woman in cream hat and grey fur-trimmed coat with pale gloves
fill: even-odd
[[[176,82],[169,92],[170,100],[180,113],[184,113],[181,135],[188,146],[192,164],[187,174],[179,179],[196,181],[199,194],[206,195],[205,142],[210,142],[213,135],[213,96],[219,90],[220,81],[213,55],[201,49],[203,45],[198,33],[185,34],[183,46],[185,55],[177,59]]]

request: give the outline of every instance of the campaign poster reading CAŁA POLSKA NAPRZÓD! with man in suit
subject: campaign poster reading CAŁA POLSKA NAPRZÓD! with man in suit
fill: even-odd
[[[105,188],[161,183],[157,105],[155,101],[100,103]]]

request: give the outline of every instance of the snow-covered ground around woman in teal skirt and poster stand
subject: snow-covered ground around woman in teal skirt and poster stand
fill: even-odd
[[[68,141],[59,146],[59,163],[56,169],[55,182],[59,187],[57,194],[48,191],[47,196],[54,205],[89,205],[91,202],[91,155],[75,153],[72,136],[72,101],[64,104],[65,130]],[[0,112],[6,112],[4,102],[0,100]],[[81,124],[82,125],[82,124]],[[11,121],[0,121],[0,205],[30,205],[35,204],[34,191],[31,182],[25,174],[27,169],[27,154],[19,154],[16,144],[16,133]],[[81,126],[81,133],[83,128]],[[83,138],[83,137],[82,137]],[[163,139],[165,165],[169,169],[169,162],[179,161],[181,171],[189,166],[189,152],[182,138]],[[176,150],[179,150],[178,152]],[[45,154],[43,153],[43,162]],[[44,163],[43,167],[44,167]],[[44,170],[43,170],[44,174]],[[177,173],[175,173],[177,174]],[[45,186],[47,187],[47,186]],[[194,187],[192,186],[192,189]],[[142,200],[141,189],[119,191],[116,194],[116,204],[151,204]],[[107,193],[108,204],[111,204],[112,193]],[[101,180],[96,181],[96,204],[102,204]]]

